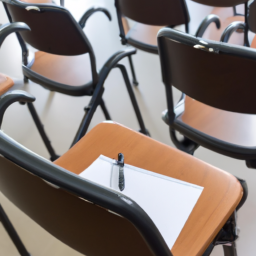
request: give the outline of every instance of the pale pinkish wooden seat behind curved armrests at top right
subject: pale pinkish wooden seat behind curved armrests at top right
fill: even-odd
[[[234,21],[242,21],[244,22],[244,16],[234,16],[233,8],[223,8],[223,7],[215,7],[211,14],[215,14],[220,18],[221,27],[220,29],[216,28],[215,23],[212,23],[205,31],[203,38],[210,39],[214,41],[219,41],[221,38],[221,34],[225,30],[225,28]],[[244,34],[243,33],[233,33],[230,37],[229,43],[243,45],[244,43]]]

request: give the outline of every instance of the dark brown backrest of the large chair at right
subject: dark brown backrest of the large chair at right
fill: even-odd
[[[167,94],[174,86],[212,107],[256,114],[256,50],[167,28],[158,33],[158,47]]]

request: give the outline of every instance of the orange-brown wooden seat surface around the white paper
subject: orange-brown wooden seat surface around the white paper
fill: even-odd
[[[204,187],[172,248],[174,256],[202,255],[242,198],[231,174],[115,123],[101,123],[55,163],[80,174],[99,155]]]

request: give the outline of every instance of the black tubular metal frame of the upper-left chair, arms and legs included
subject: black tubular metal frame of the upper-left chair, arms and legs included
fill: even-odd
[[[11,2],[3,0],[3,4],[4,4],[6,13],[7,13],[8,18],[9,18],[10,21],[12,21],[12,17],[9,13],[8,8],[7,8],[7,4],[18,5],[21,8],[29,7],[29,4],[23,4],[23,3],[20,3],[16,0],[11,0]],[[68,12],[66,10],[63,10],[64,8],[62,8],[62,7],[53,7],[52,5],[45,5],[45,4],[40,5],[40,4],[38,4],[38,5],[35,5],[35,7],[38,7],[42,12],[43,11],[48,11],[48,10],[52,11],[53,8],[54,8],[54,11],[57,11],[57,12],[60,12],[60,13],[62,13],[62,12],[67,13]],[[18,37],[18,40],[19,40],[21,48],[22,48],[23,74],[24,74],[25,80],[30,79],[30,80],[34,81],[35,83],[38,83],[38,84],[42,85],[43,87],[45,87],[45,88],[47,88],[51,91],[57,91],[57,92],[60,92],[60,93],[71,95],[71,96],[83,96],[83,95],[92,96],[89,105],[87,107],[85,107],[85,115],[84,115],[84,117],[81,121],[80,127],[79,127],[79,129],[77,131],[77,134],[76,134],[76,136],[75,136],[75,138],[72,142],[72,145],[74,145],[76,142],[78,142],[81,139],[82,136],[84,136],[84,134],[86,133],[86,131],[89,127],[89,124],[91,122],[93,114],[96,111],[98,106],[100,106],[102,108],[102,111],[103,111],[103,114],[104,114],[106,120],[110,119],[110,114],[109,114],[109,112],[107,110],[107,107],[106,107],[106,105],[105,105],[105,103],[102,99],[103,92],[104,92],[104,82],[105,82],[109,72],[111,71],[111,69],[115,68],[116,65],[118,64],[118,62],[122,58],[125,58],[125,57],[130,58],[132,54],[136,53],[136,50],[132,49],[130,47],[125,49],[125,50],[122,50],[120,52],[117,52],[116,54],[112,55],[109,58],[109,60],[103,65],[99,74],[96,72],[94,52],[93,52],[92,47],[89,44],[89,41],[87,40],[86,36],[84,35],[84,32],[82,31],[82,29],[85,27],[86,21],[91,17],[91,15],[93,15],[95,12],[99,12],[99,11],[103,12],[108,17],[108,19],[111,20],[111,15],[106,9],[104,9],[104,8],[91,8],[91,9],[87,10],[82,15],[82,17],[81,17],[81,19],[79,20],[78,23],[73,21],[73,22],[76,23],[75,26],[76,26],[78,32],[82,34],[82,36],[84,37],[85,42],[89,45],[89,51],[91,52],[90,56],[91,56],[93,81],[91,83],[88,83],[88,84],[83,85],[83,86],[70,87],[70,86],[67,86],[65,84],[60,84],[60,83],[57,83],[55,81],[49,80],[49,79],[33,72],[32,70],[30,70],[30,68],[29,68],[30,64],[28,64],[28,61],[27,61],[28,50],[27,50],[27,47],[26,47],[26,43],[25,43],[24,39],[22,38],[22,36],[19,33],[17,33],[17,37]],[[71,14],[67,14],[67,15],[69,15],[71,17]],[[71,17],[71,19],[73,19],[73,18]],[[120,66],[120,68],[121,68],[121,66]],[[128,89],[128,88],[130,88],[130,85],[127,84],[127,78],[126,78],[127,72],[126,72],[126,69],[125,69],[124,66],[121,68],[121,71],[122,71],[122,74],[123,74],[124,82],[125,82],[126,87]],[[131,102],[133,104],[135,114],[138,118],[138,122],[139,122],[139,125],[140,125],[140,131],[142,133],[148,135],[149,133],[147,132],[147,130],[145,128],[145,125],[144,125],[140,110],[138,108],[138,104],[136,102],[136,98],[134,96],[134,93],[131,92],[130,90],[128,90],[128,92],[129,92],[129,95],[131,97]],[[32,107],[31,104],[28,104],[28,107],[29,107],[29,110],[32,114],[32,117],[33,117],[34,121],[35,121],[35,124],[36,124],[36,126],[39,130],[39,133],[40,133],[40,135],[41,135],[41,137],[44,141],[44,144],[45,144],[47,150],[50,153],[51,160],[57,159],[59,156],[56,155],[56,153],[54,152],[54,149],[52,148],[52,146],[50,144],[50,140],[48,139],[47,135],[44,132],[43,125],[42,125],[42,123],[39,119],[39,116],[36,113],[35,108]]]

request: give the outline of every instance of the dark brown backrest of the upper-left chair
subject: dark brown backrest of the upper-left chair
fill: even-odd
[[[74,56],[89,53],[94,82],[96,59],[92,46],[71,13],[54,4],[31,4],[2,0],[11,22],[26,23],[31,31],[21,32],[22,39],[34,48],[51,54]],[[22,42],[21,46],[22,46]]]

